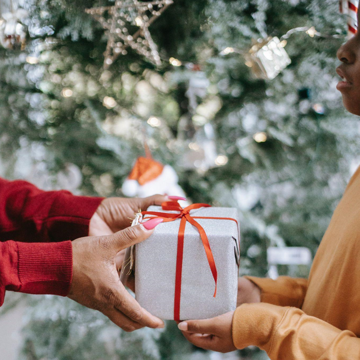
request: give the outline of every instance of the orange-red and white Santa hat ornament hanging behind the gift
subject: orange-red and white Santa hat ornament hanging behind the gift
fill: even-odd
[[[164,166],[147,154],[146,157],[137,158],[121,190],[129,197],[147,197],[155,194],[186,197],[184,190],[177,183],[178,180],[175,170],[170,165]]]

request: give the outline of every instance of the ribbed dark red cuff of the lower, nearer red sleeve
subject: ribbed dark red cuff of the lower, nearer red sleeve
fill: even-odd
[[[66,296],[72,279],[71,241],[16,244],[18,291]]]

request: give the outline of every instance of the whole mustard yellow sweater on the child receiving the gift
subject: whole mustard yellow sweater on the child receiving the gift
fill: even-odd
[[[261,303],[235,310],[237,348],[272,360],[360,360],[360,168],[351,178],[314,258],[309,279],[248,277]]]

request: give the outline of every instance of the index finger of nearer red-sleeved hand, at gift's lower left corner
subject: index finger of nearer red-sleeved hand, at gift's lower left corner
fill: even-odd
[[[130,295],[124,286],[120,283],[121,297],[119,298],[116,308],[119,309],[129,319],[137,322],[142,326],[151,328],[162,328],[165,326],[164,322],[158,317],[152,315],[149,311],[141,308],[140,304]]]

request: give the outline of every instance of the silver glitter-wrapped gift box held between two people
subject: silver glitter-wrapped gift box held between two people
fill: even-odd
[[[150,206],[147,211],[178,213]],[[240,258],[238,211],[226,207],[190,210],[205,230],[217,269],[215,281],[198,229],[187,222],[184,233],[180,292],[180,320],[206,319],[235,310]],[[144,219],[149,215],[145,215]],[[161,223],[151,237],[136,245],[135,289],[140,305],[155,316],[174,320],[175,274],[180,220]]]

